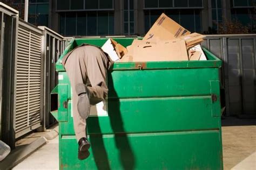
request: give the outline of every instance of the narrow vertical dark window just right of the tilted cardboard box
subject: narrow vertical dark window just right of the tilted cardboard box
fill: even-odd
[[[221,0],[212,0],[212,30],[218,31],[219,24],[223,22]]]

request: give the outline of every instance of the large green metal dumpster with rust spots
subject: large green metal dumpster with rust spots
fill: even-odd
[[[62,56],[106,38],[73,39]],[[114,39],[127,46],[132,38]],[[51,113],[59,122],[60,169],[223,169],[219,67],[207,61],[114,63],[104,114],[87,119],[90,157],[77,158],[71,87],[60,63]]]

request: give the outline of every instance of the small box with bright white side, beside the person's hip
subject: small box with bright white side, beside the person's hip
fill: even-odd
[[[127,53],[127,49],[124,46],[118,44],[117,41],[114,41],[111,38],[105,42],[102,46],[102,50],[109,54],[112,61],[119,60]]]

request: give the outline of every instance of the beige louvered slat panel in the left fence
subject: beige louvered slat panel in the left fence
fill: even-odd
[[[41,87],[43,86],[41,81],[41,38],[41,35],[19,25],[16,79],[16,138],[31,131],[32,126],[41,123]]]

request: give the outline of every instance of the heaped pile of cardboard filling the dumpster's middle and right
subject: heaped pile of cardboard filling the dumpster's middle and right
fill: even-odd
[[[164,13],[143,40],[134,39],[118,62],[207,60],[200,43],[205,36],[191,33]],[[124,48],[124,47],[123,47]]]

